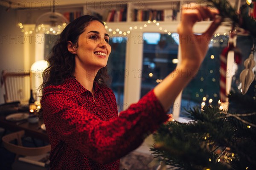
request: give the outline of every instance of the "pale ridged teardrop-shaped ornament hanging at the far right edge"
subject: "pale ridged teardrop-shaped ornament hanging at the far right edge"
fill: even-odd
[[[252,48],[250,56],[244,61],[245,68],[240,74],[240,81],[242,84],[241,91],[243,95],[246,94],[246,92],[250,87],[250,84],[253,82],[255,77],[253,73],[253,68],[255,67],[255,61],[253,59],[253,51],[254,51],[254,48]]]

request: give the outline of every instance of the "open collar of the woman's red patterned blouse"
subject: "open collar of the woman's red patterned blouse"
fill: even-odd
[[[65,84],[68,86],[69,89],[74,91],[76,94],[83,94],[85,92],[90,92],[86,88],[84,88],[79,81],[73,76],[68,76],[65,80]],[[98,83],[94,80],[93,82],[94,93],[99,90]]]

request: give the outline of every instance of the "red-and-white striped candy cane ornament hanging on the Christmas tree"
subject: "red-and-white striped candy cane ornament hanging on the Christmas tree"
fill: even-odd
[[[241,63],[241,52],[239,48],[234,45],[234,41],[236,40],[236,33],[233,30],[230,33],[228,46],[224,48],[221,52],[220,61],[221,61],[221,69],[220,69],[220,99],[221,102],[227,102],[228,94],[231,88],[231,70],[233,68],[233,63],[236,64]],[[227,73],[228,70],[228,73]],[[227,75],[228,74],[228,75]],[[227,80],[228,78],[228,80]],[[228,84],[228,85],[227,85]]]

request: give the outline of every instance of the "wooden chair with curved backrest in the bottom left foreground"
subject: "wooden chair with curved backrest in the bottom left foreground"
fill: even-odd
[[[22,146],[21,137],[24,135],[24,130],[10,133],[2,137],[3,146],[6,150],[9,150],[12,153],[16,154],[15,161],[12,164],[13,170],[48,170],[48,167],[40,167],[35,164],[25,163],[23,161],[19,161],[18,158],[20,156],[40,156],[48,153],[51,150],[51,145],[48,144],[43,147],[24,147]],[[12,141],[17,140],[17,145],[13,144]]]

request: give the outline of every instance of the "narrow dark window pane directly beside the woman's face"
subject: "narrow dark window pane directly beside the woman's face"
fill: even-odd
[[[116,96],[118,111],[127,108],[123,104],[126,41],[126,37],[111,37],[112,51],[107,65],[108,74],[111,77],[110,87]]]

